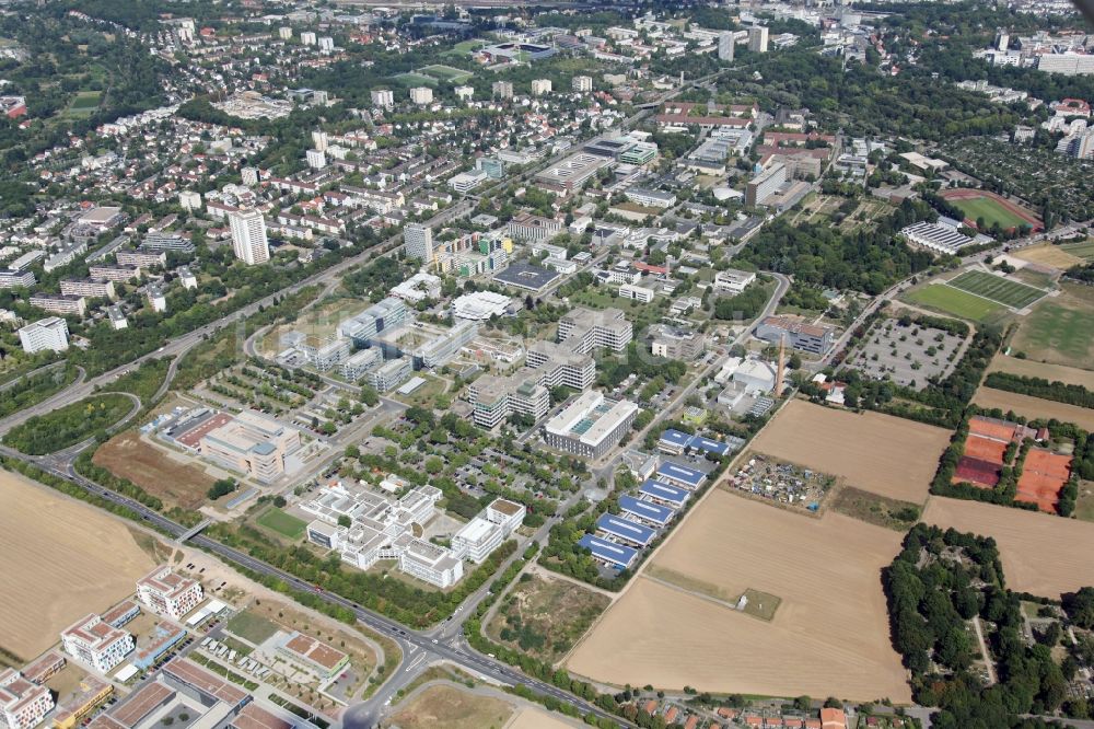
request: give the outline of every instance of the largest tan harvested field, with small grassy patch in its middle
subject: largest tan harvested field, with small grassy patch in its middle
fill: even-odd
[[[617,685],[907,703],[881,587],[900,536],[712,490],[654,558],[661,577],[636,578],[568,668]],[[684,579],[672,585],[664,570]],[[732,598],[710,599],[703,585],[782,602],[766,622],[733,610]]]

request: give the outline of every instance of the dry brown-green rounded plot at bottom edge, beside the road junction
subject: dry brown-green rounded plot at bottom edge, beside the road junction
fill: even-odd
[[[480,696],[455,686],[432,685],[410,698],[385,727],[399,729],[501,729],[513,707],[500,698]]]

